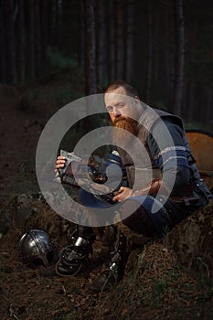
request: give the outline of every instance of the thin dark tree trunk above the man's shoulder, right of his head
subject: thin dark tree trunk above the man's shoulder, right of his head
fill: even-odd
[[[153,78],[153,2],[148,2],[148,57],[146,73],[146,102],[150,103],[151,84]]]

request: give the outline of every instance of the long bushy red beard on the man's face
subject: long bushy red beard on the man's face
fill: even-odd
[[[112,124],[115,128],[123,129],[116,130],[113,133],[114,144],[127,144],[132,140],[130,133],[133,133],[133,135],[138,133],[138,122],[133,118],[120,116]]]

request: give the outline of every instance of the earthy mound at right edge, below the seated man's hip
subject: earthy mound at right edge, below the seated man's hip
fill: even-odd
[[[177,260],[189,271],[203,269],[213,277],[213,201],[197,214],[182,221],[167,236],[167,243],[176,252]]]

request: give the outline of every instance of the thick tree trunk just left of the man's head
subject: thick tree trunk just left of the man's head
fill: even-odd
[[[96,57],[95,57],[95,15],[94,0],[84,0],[85,8],[85,78],[86,95],[97,92],[96,84]]]

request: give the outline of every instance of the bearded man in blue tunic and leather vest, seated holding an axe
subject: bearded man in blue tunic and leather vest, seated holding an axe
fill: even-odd
[[[116,240],[109,268],[90,286],[94,291],[107,289],[122,278],[131,251],[130,238],[135,245],[143,245],[163,235],[165,229],[174,228],[212,198],[200,179],[179,117],[148,107],[139,100],[133,86],[122,80],[106,89],[104,102],[114,127],[116,145],[107,165],[119,165],[124,178],[111,203],[84,189],[80,189],[80,202],[90,208],[119,203],[122,222],[114,227]],[[57,170],[65,161],[64,157],[58,157]],[[104,173],[102,176],[106,179]],[[73,242],[57,263],[58,274],[78,273],[88,261],[94,240],[92,228],[77,226]]]

